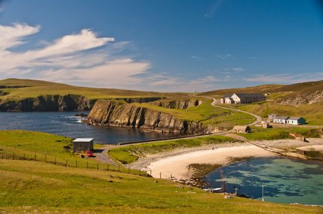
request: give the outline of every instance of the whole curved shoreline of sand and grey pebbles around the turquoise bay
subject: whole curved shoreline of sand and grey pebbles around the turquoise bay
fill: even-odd
[[[203,145],[159,154],[148,154],[144,158],[139,158],[135,163],[131,163],[130,166],[147,171],[154,178],[166,178],[194,185],[196,180],[192,179],[192,170],[188,170],[189,165],[228,165],[250,157],[280,156],[282,154],[276,152],[276,150],[284,150],[287,147],[294,149],[300,146],[323,145],[323,139],[309,140],[309,143],[285,139]],[[287,154],[293,156],[294,153],[289,152]],[[300,154],[298,154],[298,158],[302,158]]]

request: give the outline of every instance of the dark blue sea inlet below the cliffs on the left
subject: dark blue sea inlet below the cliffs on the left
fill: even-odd
[[[142,132],[135,128],[87,126],[76,114],[89,112],[0,112],[0,130],[31,130],[69,136],[93,138],[98,144],[166,139],[174,133]]]

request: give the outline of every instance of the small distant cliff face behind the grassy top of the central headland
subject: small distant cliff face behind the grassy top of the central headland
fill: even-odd
[[[175,99],[161,102],[152,102],[151,104],[164,108],[186,109],[194,106],[199,106],[202,104],[202,101],[199,99]]]

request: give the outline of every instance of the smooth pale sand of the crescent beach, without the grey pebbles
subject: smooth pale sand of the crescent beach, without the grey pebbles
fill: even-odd
[[[257,147],[256,145],[249,145],[243,143],[232,147],[218,147],[215,149],[200,150],[195,152],[188,152],[186,154],[179,154],[176,156],[169,156],[151,162],[146,167],[146,170],[151,170],[151,174],[155,178],[170,178],[170,174],[175,179],[188,179],[188,165],[192,163],[210,163],[225,165],[230,163],[230,158],[243,158],[248,156],[267,157],[275,156],[276,154]]]

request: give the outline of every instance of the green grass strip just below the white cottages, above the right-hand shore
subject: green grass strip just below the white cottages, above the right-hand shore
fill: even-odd
[[[289,133],[301,134],[305,137],[320,137],[318,130],[311,128],[259,128],[252,127],[252,132],[248,134],[239,134],[245,136],[246,139],[250,141],[258,140],[279,140],[279,139],[294,139]]]

